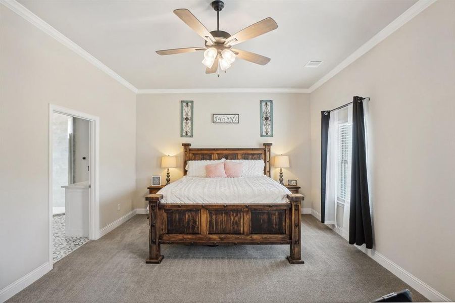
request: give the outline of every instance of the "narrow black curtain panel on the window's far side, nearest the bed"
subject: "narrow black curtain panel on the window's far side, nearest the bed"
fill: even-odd
[[[330,111],[321,112],[321,222],[325,220],[325,180],[327,175],[327,142]]]

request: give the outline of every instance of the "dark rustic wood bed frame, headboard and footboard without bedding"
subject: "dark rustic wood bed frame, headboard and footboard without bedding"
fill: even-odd
[[[183,143],[183,172],[190,160],[263,159],[270,177],[270,147],[190,148]],[[304,196],[288,194],[287,204],[162,204],[162,194],[149,194],[149,256],[145,263],[163,260],[161,244],[240,245],[286,244],[287,260],[301,264],[300,204]]]

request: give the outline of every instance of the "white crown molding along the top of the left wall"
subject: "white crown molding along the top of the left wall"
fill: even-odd
[[[137,88],[134,87],[131,83],[126,81],[124,78],[122,78],[119,74],[114,72],[112,69],[107,67],[105,64],[103,64],[101,61],[90,55],[87,51],[85,51],[82,47],[74,43],[72,40],[70,40],[68,37],[66,37],[64,34],[59,32],[57,29],[54,27],[50,26],[48,23],[46,23],[44,20],[33,14],[31,11],[29,11],[26,7],[24,7],[22,4],[18,3],[16,0],[0,0],[0,3],[48,34],[49,36],[53,37],[69,49],[76,53],[77,55],[81,56],[91,64],[93,64],[95,67],[98,69],[102,70],[115,80],[117,80],[119,83],[127,87],[128,89],[132,90],[133,92],[137,92]]]

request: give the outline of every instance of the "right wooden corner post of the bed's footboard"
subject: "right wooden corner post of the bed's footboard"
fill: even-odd
[[[289,245],[289,256],[287,256],[287,261],[290,264],[303,264],[304,261],[301,260],[301,216],[300,216],[300,205],[301,201],[304,199],[304,196],[299,193],[288,194],[287,198],[291,204],[291,244]]]

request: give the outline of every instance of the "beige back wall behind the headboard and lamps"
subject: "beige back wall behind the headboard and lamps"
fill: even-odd
[[[273,100],[273,137],[260,136],[261,99]],[[180,137],[180,100],[194,101],[194,135]],[[261,147],[271,142],[272,154],[289,156],[283,169],[285,182],[297,179],[301,193],[310,196],[310,102],[301,93],[194,93],[138,94],[136,141],[136,208],[144,208],[144,195],[152,175],[162,176],[161,156],[177,155],[171,181],[183,175],[182,143],[192,147]],[[212,114],[239,114],[239,124],[213,124]],[[278,180],[279,169],[272,169]],[[311,201],[304,202],[305,208]]]

